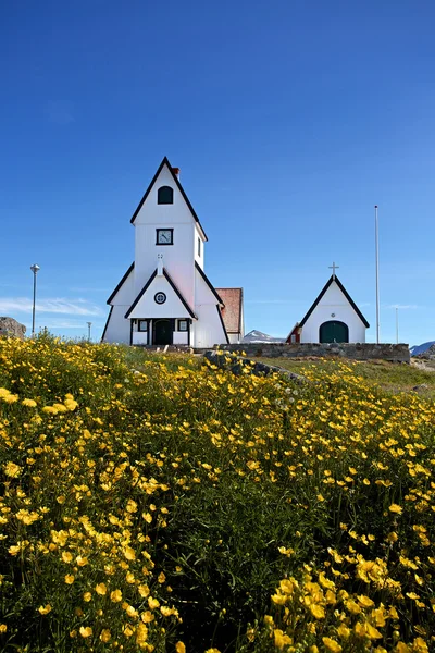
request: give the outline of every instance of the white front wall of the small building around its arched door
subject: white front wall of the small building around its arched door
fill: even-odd
[[[335,317],[332,317],[335,313]],[[319,329],[323,322],[336,320],[349,328],[349,343],[365,342],[365,325],[355,312],[335,281],[332,282],[322,299],[303,324],[301,343],[319,343]]]

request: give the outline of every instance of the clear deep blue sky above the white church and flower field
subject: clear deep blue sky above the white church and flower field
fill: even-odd
[[[0,7],[0,315],[99,337],[163,156],[245,288],[286,335],[339,279],[375,338],[435,338],[432,0],[77,0]]]

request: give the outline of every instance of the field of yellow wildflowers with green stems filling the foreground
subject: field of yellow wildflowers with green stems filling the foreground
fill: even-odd
[[[435,650],[435,410],[0,340],[0,651]]]

